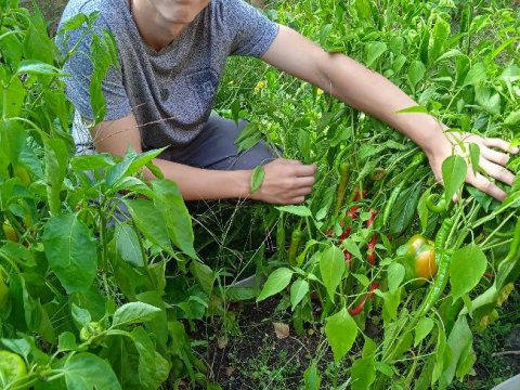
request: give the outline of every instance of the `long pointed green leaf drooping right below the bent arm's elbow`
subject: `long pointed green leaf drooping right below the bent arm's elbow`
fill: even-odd
[[[170,180],[154,180],[152,187],[154,204],[166,221],[169,237],[184,253],[197,259],[193,247],[192,218],[178,185]]]

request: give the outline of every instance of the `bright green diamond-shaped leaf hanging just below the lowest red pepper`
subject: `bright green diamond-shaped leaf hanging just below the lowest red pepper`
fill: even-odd
[[[333,349],[334,360],[339,363],[358,337],[358,325],[346,308],[327,318],[325,335]]]

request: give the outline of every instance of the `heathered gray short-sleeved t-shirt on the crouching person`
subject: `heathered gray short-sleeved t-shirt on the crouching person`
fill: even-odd
[[[70,0],[61,24],[78,13],[95,11],[100,17],[94,32],[110,31],[119,53],[119,68],[112,68],[103,83],[105,120],[132,113],[144,150],[190,143],[211,113],[226,57],[261,56],[278,31],[277,24],[243,0],[212,0],[160,52],[141,38],[128,0]],[[73,48],[80,35],[80,29],[72,32],[62,51]],[[88,53],[90,39],[83,39],[64,70],[72,75],[65,80],[67,95],[79,115],[91,120]]]

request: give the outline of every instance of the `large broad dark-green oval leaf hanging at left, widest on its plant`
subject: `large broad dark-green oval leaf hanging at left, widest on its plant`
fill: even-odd
[[[47,221],[42,243],[49,266],[68,294],[84,292],[98,273],[98,244],[77,214]]]

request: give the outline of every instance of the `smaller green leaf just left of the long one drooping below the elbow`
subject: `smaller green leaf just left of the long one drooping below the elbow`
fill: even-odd
[[[166,221],[161,213],[150,200],[145,199],[125,199],[130,214],[135,225],[155,245],[162,250],[173,255]]]

